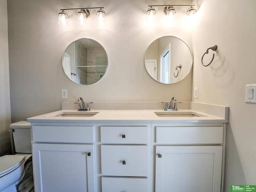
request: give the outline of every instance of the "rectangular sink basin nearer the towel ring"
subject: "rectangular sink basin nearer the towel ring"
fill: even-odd
[[[205,117],[205,115],[196,112],[183,112],[183,111],[164,111],[154,112],[158,117]]]

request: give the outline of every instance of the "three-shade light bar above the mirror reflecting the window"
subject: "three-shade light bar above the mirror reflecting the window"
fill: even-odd
[[[156,10],[154,7],[164,7],[164,14],[166,16],[174,15],[176,13],[175,7],[184,7],[184,6],[190,7],[186,12],[187,15],[196,14],[196,9],[194,8],[195,5],[149,5],[150,8],[147,10],[147,14],[150,15],[151,12],[154,12],[154,14],[156,14]]]

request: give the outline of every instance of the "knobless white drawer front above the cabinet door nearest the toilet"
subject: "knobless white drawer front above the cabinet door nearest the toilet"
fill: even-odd
[[[94,126],[32,126],[34,142],[93,143]]]

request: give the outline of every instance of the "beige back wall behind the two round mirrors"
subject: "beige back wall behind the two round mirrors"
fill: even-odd
[[[192,73],[179,83],[165,85],[146,72],[144,55],[157,38],[177,36],[192,47],[191,30],[183,23],[164,26],[163,8],[156,10],[156,26],[146,26],[148,5],[157,2],[94,0],[86,4],[83,0],[8,0],[12,121],[60,110],[62,101],[76,101],[78,97],[90,102],[169,101],[173,96],[190,101]],[[68,12],[69,28],[58,26],[61,8],[81,6],[104,6],[106,26],[97,25],[96,10],[90,11],[86,28],[77,26],[76,11]],[[184,20],[186,8],[180,9],[179,19]],[[79,38],[96,40],[108,54],[107,72],[95,84],[75,84],[62,69],[66,47]],[[61,89],[68,89],[68,99],[61,99]]]

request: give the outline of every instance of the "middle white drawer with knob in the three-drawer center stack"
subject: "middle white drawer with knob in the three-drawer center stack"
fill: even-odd
[[[148,146],[102,145],[104,176],[148,176]]]

